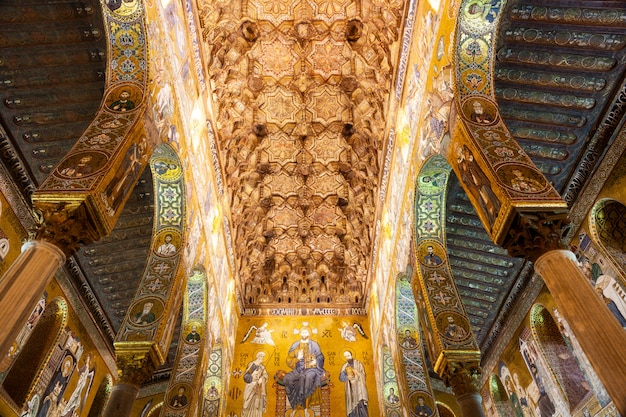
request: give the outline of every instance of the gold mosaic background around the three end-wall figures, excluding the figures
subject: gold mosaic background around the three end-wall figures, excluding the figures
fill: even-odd
[[[314,413],[309,415],[347,415],[345,383],[340,380],[342,369],[346,371],[344,368],[346,351],[349,351],[355,359],[353,366],[355,373],[360,373],[360,367],[356,362],[362,364],[362,370],[365,373],[364,382],[369,397],[369,415],[379,415],[372,343],[367,329],[369,329],[369,322],[364,317],[241,318],[224,415],[231,417],[246,415],[242,413],[242,410],[246,401],[245,398],[250,395],[248,394],[250,388],[246,390],[247,385],[250,384],[244,379],[251,380],[251,376],[244,377],[251,362],[259,357],[260,352],[264,353],[264,356],[261,354],[260,357],[263,358],[262,364],[267,372],[265,384],[259,384],[260,386],[264,385],[266,391],[265,413],[263,415],[279,415],[280,411],[277,410],[286,410],[291,413],[292,408],[289,399],[284,393],[281,393],[282,386],[279,381],[289,379],[285,373],[291,371],[288,365],[289,357],[293,356],[289,354],[290,348],[295,342],[301,340],[306,330],[309,330],[310,340],[319,345],[323,355],[325,375],[322,377],[322,385],[329,390],[321,393],[321,403],[315,401],[315,393],[311,396],[312,399],[306,401],[305,409]],[[250,374],[250,372],[248,373]],[[347,371],[347,373],[350,372]],[[251,407],[255,407],[255,405],[248,406],[248,408]],[[256,407],[263,407],[263,403],[257,403]],[[296,411],[295,415],[302,412]],[[284,415],[284,412],[280,415]]]

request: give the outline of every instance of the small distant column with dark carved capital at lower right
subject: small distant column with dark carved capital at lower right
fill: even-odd
[[[480,395],[481,369],[476,362],[449,362],[443,379],[454,392],[462,417],[485,417]]]

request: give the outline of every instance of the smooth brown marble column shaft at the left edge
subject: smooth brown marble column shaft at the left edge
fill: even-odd
[[[64,262],[63,251],[50,242],[34,240],[22,246],[22,253],[0,279],[3,317],[0,321],[0,355],[9,352],[41,294]]]

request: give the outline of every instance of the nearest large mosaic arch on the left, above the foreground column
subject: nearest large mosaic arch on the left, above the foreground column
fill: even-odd
[[[72,149],[33,194],[53,233],[72,218],[66,253],[108,235],[132,185],[147,165],[158,136],[145,112],[148,98],[148,45],[143,3],[124,2],[111,10],[102,5],[107,32],[104,98],[95,118]]]

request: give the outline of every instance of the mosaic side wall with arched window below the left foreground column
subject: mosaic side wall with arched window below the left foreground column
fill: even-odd
[[[95,347],[66,297],[56,281],[48,285],[3,361],[0,415],[87,417],[104,405],[112,359]]]

